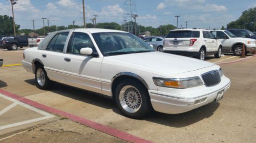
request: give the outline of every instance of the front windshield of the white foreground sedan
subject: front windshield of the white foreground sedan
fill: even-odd
[[[130,33],[104,32],[92,34],[104,56],[155,51]]]

